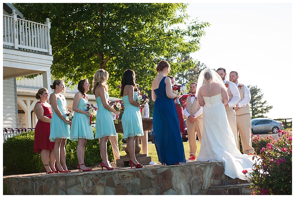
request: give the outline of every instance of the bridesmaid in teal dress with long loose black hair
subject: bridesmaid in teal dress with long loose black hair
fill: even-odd
[[[121,93],[124,103],[124,113],[122,115],[123,137],[127,138],[127,149],[130,153],[129,164],[132,168],[142,168],[135,158],[135,140],[137,136],[143,136],[142,118],[139,108],[144,108],[136,102],[137,86],[135,84],[135,73],[133,70],[126,70],[121,81]]]

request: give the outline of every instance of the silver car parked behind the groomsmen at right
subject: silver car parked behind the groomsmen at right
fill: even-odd
[[[278,122],[269,118],[253,118],[251,120],[251,131],[252,133],[258,132],[273,132],[278,133],[279,129],[283,129],[284,125],[282,122]]]

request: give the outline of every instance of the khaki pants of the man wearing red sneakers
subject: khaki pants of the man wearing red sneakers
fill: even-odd
[[[193,155],[196,158],[197,154],[197,141],[196,135],[198,135],[199,141],[201,143],[202,133],[203,133],[203,118],[197,118],[194,122],[190,122],[189,119],[186,120],[187,126],[187,136],[189,140],[189,155]]]

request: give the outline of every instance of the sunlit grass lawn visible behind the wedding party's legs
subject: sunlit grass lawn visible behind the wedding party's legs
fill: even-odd
[[[140,147],[141,144],[139,144]],[[126,144],[123,144],[123,147],[126,147]],[[183,142],[183,148],[184,148],[184,154],[185,154],[185,158],[188,159],[189,158],[189,142]],[[197,156],[200,152],[200,142],[197,141]],[[142,153],[142,151],[140,151],[140,153]],[[158,155],[157,155],[157,151],[156,151],[156,147],[155,144],[148,144],[148,155],[151,156],[152,161],[156,162],[156,163],[160,163],[158,160]],[[126,155],[125,151],[120,151],[120,156]]]

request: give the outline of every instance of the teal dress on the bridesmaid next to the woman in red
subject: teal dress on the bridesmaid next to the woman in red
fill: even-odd
[[[65,119],[68,120],[67,116],[65,115],[68,112],[66,108],[67,101],[58,98],[57,106],[60,112],[63,114],[63,117],[65,117]],[[58,117],[58,115],[56,115],[52,105],[51,105],[51,109],[53,114],[50,121],[50,136],[49,136],[50,141],[54,142],[55,139],[58,139],[58,138],[66,139],[70,137],[70,125],[66,124],[62,119],[60,119],[60,117]]]

